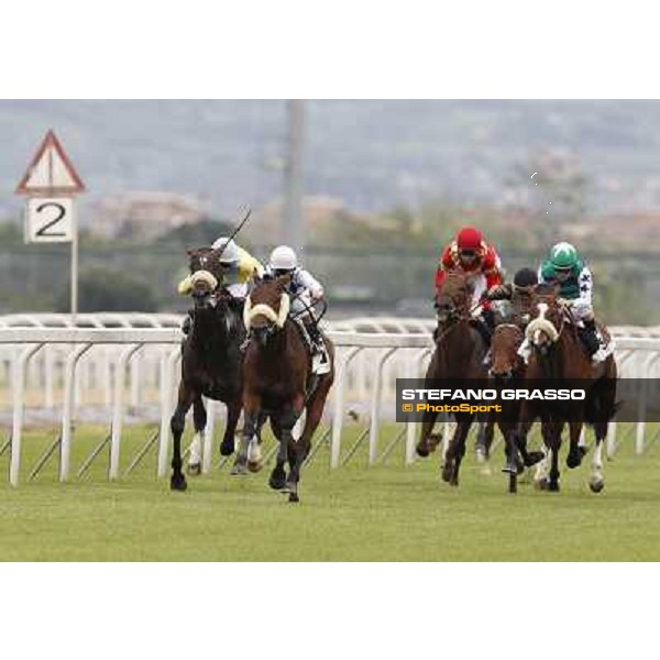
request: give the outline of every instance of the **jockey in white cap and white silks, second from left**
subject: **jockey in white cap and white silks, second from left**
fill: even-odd
[[[323,287],[309,271],[300,267],[295,251],[288,245],[279,245],[271,253],[267,274],[273,277],[290,276],[288,294],[292,297],[290,315],[301,324],[309,338],[309,345],[314,355],[326,355],[323,338],[319,330],[314,305],[323,299]]]

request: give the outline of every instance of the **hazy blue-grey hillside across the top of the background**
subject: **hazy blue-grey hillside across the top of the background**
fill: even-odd
[[[306,108],[306,191],[353,210],[429,199],[506,205],[528,185],[525,163],[547,150],[575,161],[593,212],[660,208],[658,101],[309,101]],[[282,193],[284,101],[0,101],[2,216],[15,215],[13,188],[50,127],[88,185],[86,205],[127,190],[170,190],[196,195],[222,216]]]

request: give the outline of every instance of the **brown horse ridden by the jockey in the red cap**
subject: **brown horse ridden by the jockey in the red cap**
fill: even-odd
[[[426,373],[425,386],[438,380],[485,380],[487,377],[484,356],[488,346],[482,333],[474,327],[471,317],[473,284],[469,275],[450,273],[436,297],[438,327],[433,334],[436,350]],[[422,416],[421,436],[417,453],[428,457],[438,444],[432,437],[438,413],[426,411]],[[474,415],[455,414],[455,431],[449,443],[442,479],[453,486],[459,485],[459,470],[465,454],[465,439]]]

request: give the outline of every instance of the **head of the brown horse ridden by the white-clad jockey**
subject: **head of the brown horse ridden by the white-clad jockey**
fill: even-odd
[[[252,331],[252,336],[262,346],[286,323],[290,306],[286,290],[289,282],[288,275],[262,279],[245,300],[245,328]]]

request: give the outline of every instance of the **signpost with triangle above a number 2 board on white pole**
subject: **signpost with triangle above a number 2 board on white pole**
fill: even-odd
[[[78,223],[74,197],[85,191],[85,185],[52,130],[36,150],[15,191],[28,198],[26,243],[72,244],[70,314],[75,326],[78,314]]]

